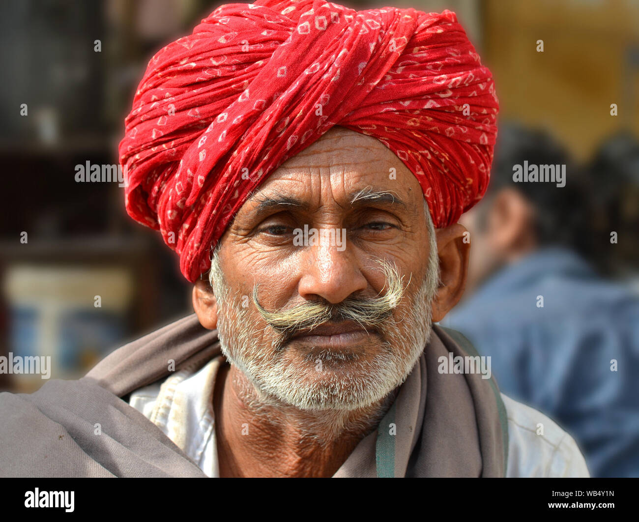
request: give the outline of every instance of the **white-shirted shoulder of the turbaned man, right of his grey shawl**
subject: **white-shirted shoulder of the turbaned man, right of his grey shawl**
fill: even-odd
[[[501,394],[508,419],[507,477],[589,477],[577,443],[541,411]]]

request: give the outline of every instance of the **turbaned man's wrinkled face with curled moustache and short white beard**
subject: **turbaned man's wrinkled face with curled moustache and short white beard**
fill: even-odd
[[[221,240],[222,351],[263,399],[372,404],[424,349],[436,255],[415,176],[378,140],[333,128],[271,174]]]

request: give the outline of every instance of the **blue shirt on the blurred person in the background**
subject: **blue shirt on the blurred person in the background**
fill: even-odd
[[[593,477],[639,476],[638,296],[548,248],[493,275],[442,325],[491,356],[502,392],[574,437]]]

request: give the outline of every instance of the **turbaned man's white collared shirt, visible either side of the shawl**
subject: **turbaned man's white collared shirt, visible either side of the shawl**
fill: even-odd
[[[129,404],[158,426],[208,477],[219,477],[213,386],[222,357],[132,392]],[[589,477],[573,438],[534,408],[502,394],[508,418],[507,477]]]

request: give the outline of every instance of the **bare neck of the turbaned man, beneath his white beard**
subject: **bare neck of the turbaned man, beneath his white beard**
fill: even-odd
[[[266,404],[237,367],[224,364],[213,395],[220,477],[332,477],[398,390],[361,410],[303,411]]]

